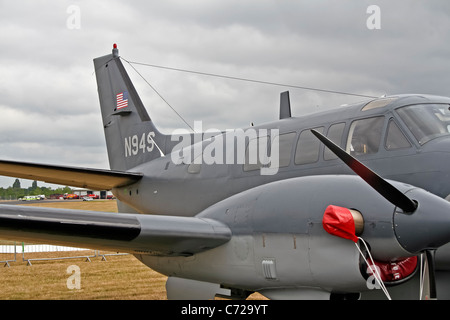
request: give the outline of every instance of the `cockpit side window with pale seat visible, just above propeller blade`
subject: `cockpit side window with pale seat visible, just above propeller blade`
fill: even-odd
[[[348,134],[347,152],[355,156],[377,153],[383,123],[383,116],[354,121]]]

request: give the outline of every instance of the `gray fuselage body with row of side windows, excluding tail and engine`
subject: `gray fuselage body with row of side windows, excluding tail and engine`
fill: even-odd
[[[246,166],[246,163],[239,161],[227,164],[193,164],[192,161],[175,164],[175,157],[166,154],[130,170],[142,172],[143,179],[134,185],[115,189],[114,193],[120,201],[141,213],[193,216],[231,195],[272,181],[313,175],[353,174],[311,136],[310,129],[318,129],[383,178],[423,188],[442,198],[448,197],[450,99],[399,96],[386,98],[385,102],[380,100],[383,98],[248,128],[267,132],[278,130],[280,163],[275,174],[263,175],[260,170],[262,166]],[[409,114],[399,111],[408,106],[418,111]],[[430,109],[433,111],[426,111]],[[418,121],[435,116],[439,118],[434,120],[440,123],[428,124],[431,129],[414,127]],[[413,122],[411,118],[414,117],[419,119]],[[443,127],[433,129],[436,125]],[[420,130],[423,132],[418,133]],[[273,138],[272,134],[270,139]],[[169,139],[167,136],[166,144],[172,143],[178,155],[180,150],[176,146],[179,141]],[[201,142],[201,150],[206,151],[208,143],[211,142]],[[153,150],[159,152],[156,148]],[[236,150],[234,152],[237,153]]]

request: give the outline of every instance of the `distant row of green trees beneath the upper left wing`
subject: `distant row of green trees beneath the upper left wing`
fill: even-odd
[[[39,187],[37,181],[33,181],[31,187],[22,188],[19,179],[16,179],[13,185],[8,188],[0,187],[0,198],[2,200],[16,200],[23,198],[24,196],[37,196],[42,194],[45,195],[46,198],[50,198],[53,194],[62,195],[64,193],[72,193],[72,189],[70,187],[60,187],[56,189]]]

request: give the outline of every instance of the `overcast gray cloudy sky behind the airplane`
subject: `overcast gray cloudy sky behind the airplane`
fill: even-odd
[[[113,43],[154,65],[370,96],[450,95],[449,15],[447,0],[0,0],[0,159],[108,168],[92,59]],[[204,128],[274,120],[286,90],[294,116],[362,99],[135,67]],[[159,128],[186,128],[126,68]]]

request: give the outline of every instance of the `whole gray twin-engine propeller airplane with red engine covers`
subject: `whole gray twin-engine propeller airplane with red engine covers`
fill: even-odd
[[[284,92],[274,122],[163,134],[117,47],[94,65],[111,170],[0,174],[112,190],[120,213],[2,205],[0,238],[129,252],[169,299],[450,298],[450,98],[295,118]]]

